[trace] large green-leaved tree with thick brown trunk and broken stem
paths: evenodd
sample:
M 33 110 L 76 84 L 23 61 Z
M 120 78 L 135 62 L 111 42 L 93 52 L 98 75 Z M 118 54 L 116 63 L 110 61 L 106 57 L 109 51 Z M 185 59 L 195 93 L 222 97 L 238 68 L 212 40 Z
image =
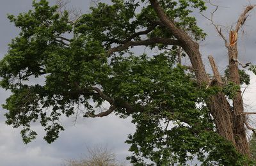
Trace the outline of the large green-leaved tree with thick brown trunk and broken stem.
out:
M 206 34 L 191 16 L 192 9 L 206 10 L 203 0 L 112 0 L 73 21 L 68 11 L 60 13 L 45 0 L 33 6 L 8 16 L 20 34 L 0 63 L 1 86 L 12 91 L 3 105 L 6 123 L 24 127 L 25 143 L 36 137 L 30 129 L 35 121 L 45 127 L 47 142 L 56 140 L 64 130 L 59 117 L 80 107 L 84 117 L 113 112 L 132 117 L 136 132 L 126 142 L 134 165 L 185 164 L 195 157 L 202 165 L 252 164 L 246 127 L 254 129 L 246 122 L 240 91 L 250 81 L 238 65 L 253 72 L 255 66 L 239 62 L 237 34 L 253 5 L 241 14 L 229 41 L 209 19 L 227 47 L 225 77 L 211 56 L 214 75 L 204 68 L 198 41 Z M 159 53 L 136 55 L 131 48 L 138 46 Z M 180 63 L 183 56 L 191 66 Z M 45 81 L 31 85 L 33 77 Z M 104 102 L 109 109 L 99 112 Z

